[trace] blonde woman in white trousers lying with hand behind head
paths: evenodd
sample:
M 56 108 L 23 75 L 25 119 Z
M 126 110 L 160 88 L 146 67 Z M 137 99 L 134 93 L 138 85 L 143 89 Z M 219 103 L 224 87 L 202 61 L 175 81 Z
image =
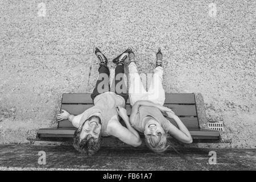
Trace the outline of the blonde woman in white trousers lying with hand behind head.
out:
M 192 143 L 192 137 L 187 127 L 179 117 L 164 107 L 165 94 L 162 86 L 163 67 L 162 52 L 156 53 L 156 67 L 148 92 L 143 88 L 139 77 L 137 65 L 134 60 L 134 52 L 129 52 L 129 98 L 131 106 L 130 123 L 136 130 L 144 133 L 147 146 L 154 152 L 160 153 L 167 150 L 171 143 L 167 141 L 167 134 L 183 143 Z M 172 125 L 163 113 L 173 118 L 177 126 Z

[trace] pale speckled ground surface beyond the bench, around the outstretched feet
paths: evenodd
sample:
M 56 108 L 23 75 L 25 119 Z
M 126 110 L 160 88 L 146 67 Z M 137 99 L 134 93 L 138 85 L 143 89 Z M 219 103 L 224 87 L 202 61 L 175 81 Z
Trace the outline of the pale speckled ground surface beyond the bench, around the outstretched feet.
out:
M 94 47 L 112 60 L 130 46 L 143 73 L 162 47 L 164 89 L 203 94 L 208 121 L 224 123 L 229 143 L 218 146 L 255 147 L 255 10 L 231 0 L 0 1 L 0 143 L 56 125 L 62 93 L 92 92 Z

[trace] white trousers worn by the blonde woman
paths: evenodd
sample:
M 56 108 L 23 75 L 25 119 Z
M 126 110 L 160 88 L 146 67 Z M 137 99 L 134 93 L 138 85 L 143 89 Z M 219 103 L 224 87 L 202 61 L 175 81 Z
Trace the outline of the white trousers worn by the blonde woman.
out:
M 155 104 L 164 104 L 166 96 L 162 85 L 163 68 L 156 67 L 148 92 L 144 89 L 141 77 L 139 76 L 137 65 L 133 62 L 129 64 L 129 98 L 133 106 L 136 101 L 147 100 Z

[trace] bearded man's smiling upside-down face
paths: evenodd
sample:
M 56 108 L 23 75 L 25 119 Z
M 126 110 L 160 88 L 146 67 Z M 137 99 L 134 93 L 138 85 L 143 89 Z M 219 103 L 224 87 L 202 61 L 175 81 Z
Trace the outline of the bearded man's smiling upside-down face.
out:
M 84 126 L 82 126 L 82 131 L 80 134 L 80 138 L 83 139 L 87 135 L 91 135 L 93 138 L 98 139 L 101 133 L 101 124 L 97 118 L 92 118 L 85 121 Z

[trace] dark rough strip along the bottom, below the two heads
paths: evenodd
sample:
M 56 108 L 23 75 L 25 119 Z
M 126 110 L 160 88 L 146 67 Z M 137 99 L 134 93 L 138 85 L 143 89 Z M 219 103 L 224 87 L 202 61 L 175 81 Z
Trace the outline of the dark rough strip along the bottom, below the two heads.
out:
M 39 151 L 46 152 L 46 164 L 38 164 Z M 163 156 L 146 148 L 103 147 L 93 157 L 80 155 L 72 146 L 0 145 L 0 169 L 84 169 L 84 170 L 255 170 L 255 149 L 180 148 L 179 154 Z M 216 164 L 209 164 L 210 151 Z M 42 160 L 40 160 L 42 161 Z M 212 160 L 210 160 L 212 161 Z

